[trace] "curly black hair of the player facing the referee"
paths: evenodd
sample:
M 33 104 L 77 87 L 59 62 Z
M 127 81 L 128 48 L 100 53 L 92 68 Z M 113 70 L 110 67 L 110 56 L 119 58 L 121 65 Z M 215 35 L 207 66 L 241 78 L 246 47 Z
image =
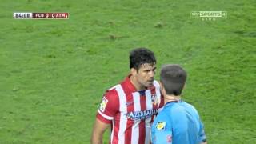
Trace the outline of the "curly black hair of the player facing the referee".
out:
M 130 51 L 130 69 L 138 70 L 145 63 L 156 64 L 154 53 L 146 48 L 137 48 Z

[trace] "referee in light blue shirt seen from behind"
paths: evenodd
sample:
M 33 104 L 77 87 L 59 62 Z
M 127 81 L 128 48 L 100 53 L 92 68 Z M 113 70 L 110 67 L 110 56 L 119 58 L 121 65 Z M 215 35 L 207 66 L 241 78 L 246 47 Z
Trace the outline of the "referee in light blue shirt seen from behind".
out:
M 165 106 L 151 127 L 153 144 L 206 144 L 206 134 L 194 106 L 181 99 L 186 71 L 178 65 L 162 66 L 161 92 Z

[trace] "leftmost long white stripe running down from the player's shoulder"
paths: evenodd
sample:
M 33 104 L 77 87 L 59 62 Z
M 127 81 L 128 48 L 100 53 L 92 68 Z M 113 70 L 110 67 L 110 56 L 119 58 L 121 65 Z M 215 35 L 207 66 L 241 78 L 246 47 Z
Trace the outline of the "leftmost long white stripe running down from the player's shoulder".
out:
M 121 85 L 116 86 L 116 90 L 117 90 L 118 96 L 119 96 L 119 111 L 120 111 L 118 143 L 123 144 L 123 143 L 125 143 L 125 130 L 126 130 L 126 123 L 127 123 L 127 118 L 126 118 L 126 113 L 127 113 L 126 94 L 122 90 Z M 112 141 L 112 139 L 111 139 L 111 141 Z

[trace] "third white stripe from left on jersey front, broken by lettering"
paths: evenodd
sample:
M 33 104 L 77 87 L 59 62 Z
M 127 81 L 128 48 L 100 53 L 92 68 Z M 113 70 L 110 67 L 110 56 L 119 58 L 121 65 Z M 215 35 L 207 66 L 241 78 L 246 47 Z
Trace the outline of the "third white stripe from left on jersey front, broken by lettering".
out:
M 151 96 L 151 90 L 146 90 L 146 110 L 152 110 L 153 109 L 153 104 L 152 104 L 152 96 Z M 146 131 L 146 138 L 145 138 L 145 144 L 150 143 L 150 118 L 146 118 L 145 120 L 145 131 Z

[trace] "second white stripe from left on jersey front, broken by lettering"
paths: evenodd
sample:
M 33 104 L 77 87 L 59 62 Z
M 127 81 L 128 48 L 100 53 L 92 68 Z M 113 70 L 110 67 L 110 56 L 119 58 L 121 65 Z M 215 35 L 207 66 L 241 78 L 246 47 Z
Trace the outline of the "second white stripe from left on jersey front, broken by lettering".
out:
M 133 93 L 134 98 L 134 111 L 140 111 L 141 110 L 141 100 L 140 100 L 140 94 L 138 92 Z M 134 125 L 132 127 L 131 131 L 131 142 L 132 143 L 138 143 L 138 136 L 139 136 L 139 123 L 140 120 L 135 120 Z

